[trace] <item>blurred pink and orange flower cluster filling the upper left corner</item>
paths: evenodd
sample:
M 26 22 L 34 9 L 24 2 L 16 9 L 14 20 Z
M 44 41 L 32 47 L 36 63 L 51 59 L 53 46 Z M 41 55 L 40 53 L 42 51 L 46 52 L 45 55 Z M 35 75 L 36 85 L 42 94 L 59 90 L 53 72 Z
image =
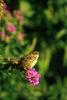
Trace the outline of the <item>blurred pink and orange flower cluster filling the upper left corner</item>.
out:
M 24 16 L 19 9 L 14 10 L 13 14 L 9 11 L 4 0 L 1 1 L 0 14 L 0 40 L 10 43 L 12 40 L 23 44 L 25 33 L 23 30 Z

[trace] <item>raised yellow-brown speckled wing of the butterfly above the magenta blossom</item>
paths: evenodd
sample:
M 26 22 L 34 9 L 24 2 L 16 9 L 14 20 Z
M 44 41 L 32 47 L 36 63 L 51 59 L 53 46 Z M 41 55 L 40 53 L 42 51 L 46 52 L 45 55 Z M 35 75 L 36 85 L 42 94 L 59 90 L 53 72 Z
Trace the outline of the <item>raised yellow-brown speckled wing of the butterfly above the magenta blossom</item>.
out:
M 39 58 L 39 52 L 33 51 L 19 60 L 18 65 L 23 68 L 33 68 Z

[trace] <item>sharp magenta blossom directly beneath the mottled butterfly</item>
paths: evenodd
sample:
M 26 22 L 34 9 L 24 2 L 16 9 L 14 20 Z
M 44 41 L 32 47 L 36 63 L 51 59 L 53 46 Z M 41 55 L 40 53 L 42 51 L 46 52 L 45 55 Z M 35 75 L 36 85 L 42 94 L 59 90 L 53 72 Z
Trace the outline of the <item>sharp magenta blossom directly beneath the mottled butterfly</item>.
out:
M 33 68 L 33 69 L 27 69 L 25 71 L 26 79 L 32 84 L 32 85 L 38 85 L 40 81 L 40 74 Z

